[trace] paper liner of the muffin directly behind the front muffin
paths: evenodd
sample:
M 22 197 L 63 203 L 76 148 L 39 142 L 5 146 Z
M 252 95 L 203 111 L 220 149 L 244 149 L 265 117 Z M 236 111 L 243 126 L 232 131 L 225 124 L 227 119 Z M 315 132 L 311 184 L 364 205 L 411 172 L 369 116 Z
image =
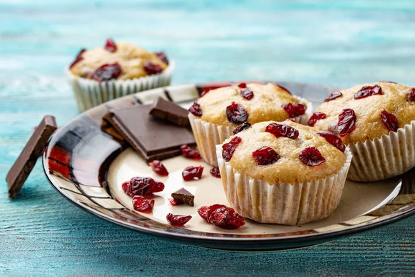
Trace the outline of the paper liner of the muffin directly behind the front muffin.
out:
M 305 114 L 297 116 L 293 118 L 293 120 L 297 123 L 305 125 L 312 115 L 313 104 L 304 98 L 298 96 L 295 96 L 295 98 L 300 100 L 302 103 L 305 103 L 307 105 L 307 109 Z M 225 139 L 232 136 L 235 127 L 209 123 L 208 121 L 201 120 L 193 114 L 189 114 L 188 117 L 190 125 L 192 125 L 194 138 L 196 139 L 196 144 L 199 148 L 199 152 L 201 153 L 201 157 L 206 163 L 209 163 L 210 166 L 218 166 L 216 158 L 216 145 L 223 143 Z

